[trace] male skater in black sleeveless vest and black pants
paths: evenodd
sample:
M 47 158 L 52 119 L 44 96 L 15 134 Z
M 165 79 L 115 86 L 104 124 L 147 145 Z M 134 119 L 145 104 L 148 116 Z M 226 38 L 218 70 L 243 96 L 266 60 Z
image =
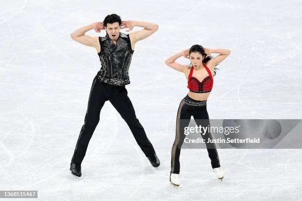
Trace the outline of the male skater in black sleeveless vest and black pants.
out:
M 129 32 L 135 26 L 143 27 L 144 29 L 129 34 L 120 33 L 121 29 L 128 28 L 126 32 Z M 107 34 L 105 37 L 92 37 L 85 34 L 91 29 L 96 32 L 101 32 L 101 30 L 105 29 Z M 78 136 L 71 161 L 70 170 L 72 174 L 78 177 L 81 176 L 81 163 L 89 140 L 100 120 L 101 109 L 107 100 L 113 104 L 114 108 L 128 124 L 136 142 L 149 159 L 151 165 L 153 167 L 160 165 L 143 126 L 136 118 L 133 105 L 127 96 L 125 88 L 125 85 L 130 84 L 128 70 L 136 42 L 149 37 L 157 29 L 158 25 L 153 23 L 132 20 L 121 21 L 118 15 L 111 14 L 103 22 L 93 23 L 71 33 L 71 37 L 77 42 L 94 47 L 101 61 L 101 69 L 92 82 L 84 125 Z

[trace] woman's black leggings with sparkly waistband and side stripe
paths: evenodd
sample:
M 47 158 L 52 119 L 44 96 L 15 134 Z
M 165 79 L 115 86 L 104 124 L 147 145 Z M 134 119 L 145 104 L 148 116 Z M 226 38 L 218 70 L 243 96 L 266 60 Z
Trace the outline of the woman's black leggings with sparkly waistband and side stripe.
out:
M 193 100 L 187 95 L 181 101 L 177 112 L 176 136 L 174 144 L 172 146 L 170 173 L 179 174 L 179 157 L 181 152 L 181 146 L 185 138 L 184 129 L 189 125 L 191 116 L 194 117 L 197 126 L 205 126 L 204 119 L 209 119 L 209 115 L 207 112 L 207 100 Z M 203 121 L 198 121 L 199 119 L 203 119 Z M 210 125 L 209 120 L 207 121 L 206 125 Z M 201 136 L 206 142 L 208 141 L 208 138 L 212 139 L 212 135 L 209 132 Z M 219 157 L 215 144 L 206 143 L 206 147 L 209 154 L 209 158 L 211 159 L 212 168 L 220 167 Z

